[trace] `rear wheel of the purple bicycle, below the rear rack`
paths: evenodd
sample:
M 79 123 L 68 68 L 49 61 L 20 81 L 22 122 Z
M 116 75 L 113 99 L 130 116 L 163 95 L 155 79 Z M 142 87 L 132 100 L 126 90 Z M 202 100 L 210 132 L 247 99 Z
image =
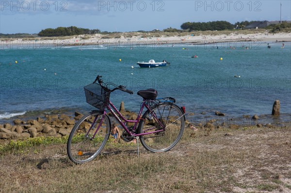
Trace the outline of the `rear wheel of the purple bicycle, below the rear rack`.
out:
M 185 117 L 176 104 L 168 102 L 157 104 L 151 111 L 145 112 L 139 124 L 139 134 L 149 133 L 140 136 L 141 143 L 151 152 L 168 151 L 181 138 Z

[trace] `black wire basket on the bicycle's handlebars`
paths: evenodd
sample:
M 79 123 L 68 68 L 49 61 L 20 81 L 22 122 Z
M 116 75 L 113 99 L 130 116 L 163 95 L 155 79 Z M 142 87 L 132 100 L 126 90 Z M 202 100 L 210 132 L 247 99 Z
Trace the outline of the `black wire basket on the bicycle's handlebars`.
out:
M 110 92 L 107 92 L 104 87 L 97 83 L 93 83 L 84 87 L 86 102 L 96 107 L 103 109 L 108 105 Z

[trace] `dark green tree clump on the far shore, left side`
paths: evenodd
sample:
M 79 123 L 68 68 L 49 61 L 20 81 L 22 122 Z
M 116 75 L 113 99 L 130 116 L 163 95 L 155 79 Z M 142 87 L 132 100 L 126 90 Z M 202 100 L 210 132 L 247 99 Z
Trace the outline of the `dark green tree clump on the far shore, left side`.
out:
M 70 35 L 81 35 L 81 34 L 95 34 L 99 33 L 100 30 L 89 30 L 84 28 L 77 28 L 75 26 L 71 27 L 59 27 L 56 29 L 48 28 L 41 30 L 38 36 L 52 37 L 52 36 L 70 36 Z

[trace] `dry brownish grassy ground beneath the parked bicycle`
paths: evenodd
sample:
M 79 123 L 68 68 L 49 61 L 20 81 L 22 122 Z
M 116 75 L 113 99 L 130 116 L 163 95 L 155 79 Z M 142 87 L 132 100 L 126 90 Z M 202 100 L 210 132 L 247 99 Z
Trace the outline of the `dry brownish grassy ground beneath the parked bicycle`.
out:
M 0 154 L 0 193 L 291 193 L 291 127 L 185 129 L 171 151 L 112 146 L 75 165 L 65 144 Z

